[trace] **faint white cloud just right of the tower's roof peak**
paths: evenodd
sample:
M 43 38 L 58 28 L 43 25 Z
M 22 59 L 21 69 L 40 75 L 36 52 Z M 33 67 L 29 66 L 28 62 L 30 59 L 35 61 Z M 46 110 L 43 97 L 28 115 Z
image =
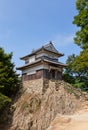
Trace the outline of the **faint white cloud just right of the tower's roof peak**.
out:
M 58 46 L 68 46 L 69 44 L 73 43 L 74 35 L 57 35 L 54 37 L 53 42 Z

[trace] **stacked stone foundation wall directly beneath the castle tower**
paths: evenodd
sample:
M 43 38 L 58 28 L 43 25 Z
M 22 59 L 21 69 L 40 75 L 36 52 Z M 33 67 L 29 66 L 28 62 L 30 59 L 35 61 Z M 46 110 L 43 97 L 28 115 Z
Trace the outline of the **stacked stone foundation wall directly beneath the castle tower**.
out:
M 55 80 L 52 81 L 52 84 L 55 86 Z M 27 93 L 36 93 L 44 94 L 50 86 L 50 80 L 41 78 L 36 80 L 27 80 L 23 81 L 23 90 Z

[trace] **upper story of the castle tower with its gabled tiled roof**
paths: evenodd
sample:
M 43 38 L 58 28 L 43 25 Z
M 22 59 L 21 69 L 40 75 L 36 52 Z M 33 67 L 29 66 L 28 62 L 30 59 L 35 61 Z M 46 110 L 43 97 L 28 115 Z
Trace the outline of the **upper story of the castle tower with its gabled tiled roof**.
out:
M 32 53 L 21 57 L 20 59 L 24 60 L 26 65 L 43 58 L 58 62 L 58 58 L 61 56 L 64 56 L 64 54 L 58 52 L 52 42 L 50 42 L 37 50 L 33 50 Z

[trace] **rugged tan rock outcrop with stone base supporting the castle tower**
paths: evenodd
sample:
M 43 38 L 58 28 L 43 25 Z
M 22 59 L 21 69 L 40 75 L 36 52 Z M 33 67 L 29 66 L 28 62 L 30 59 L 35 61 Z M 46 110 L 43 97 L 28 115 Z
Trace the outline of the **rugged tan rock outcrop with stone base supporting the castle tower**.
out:
M 45 88 L 44 88 L 45 85 Z M 58 113 L 81 107 L 82 93 L 64 81 L 31 80 L 23 84 L 9 130 L 46 130 Z

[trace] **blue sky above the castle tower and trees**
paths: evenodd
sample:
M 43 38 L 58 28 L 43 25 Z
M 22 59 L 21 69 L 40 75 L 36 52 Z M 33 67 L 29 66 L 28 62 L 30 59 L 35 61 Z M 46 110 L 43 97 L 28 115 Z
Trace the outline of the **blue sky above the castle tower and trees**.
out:
M 15 66 L 22 66 L 19 58 L 33 49 L 52 41 L 64 53 L 79 54 L 73 38 L 78 28 L 72 24 L 77 14 L 76 0 L 0 0 L 0 47 L 13 52 Z

